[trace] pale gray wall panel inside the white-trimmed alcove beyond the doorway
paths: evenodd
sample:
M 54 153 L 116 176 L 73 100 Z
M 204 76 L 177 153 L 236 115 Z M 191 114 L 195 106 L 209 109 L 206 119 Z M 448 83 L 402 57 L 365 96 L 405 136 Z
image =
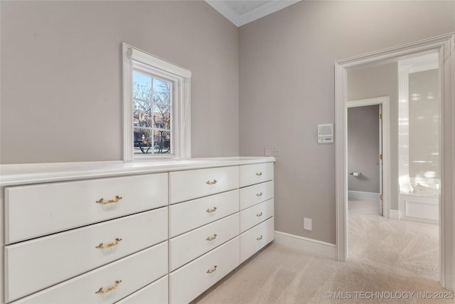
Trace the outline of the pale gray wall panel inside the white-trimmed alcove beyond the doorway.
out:
M 410 177 L 439 174 L 439 74 L 425 70 L 409 74 Z

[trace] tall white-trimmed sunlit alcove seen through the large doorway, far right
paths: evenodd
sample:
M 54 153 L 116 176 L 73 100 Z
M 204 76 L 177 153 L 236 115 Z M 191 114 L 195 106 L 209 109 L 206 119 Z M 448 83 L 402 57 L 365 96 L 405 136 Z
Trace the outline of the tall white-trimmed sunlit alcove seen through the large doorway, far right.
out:
M 399 65 L 399 216 L 438 223 L 441 189 L 438 56 L 429 54 L 416 59 Z

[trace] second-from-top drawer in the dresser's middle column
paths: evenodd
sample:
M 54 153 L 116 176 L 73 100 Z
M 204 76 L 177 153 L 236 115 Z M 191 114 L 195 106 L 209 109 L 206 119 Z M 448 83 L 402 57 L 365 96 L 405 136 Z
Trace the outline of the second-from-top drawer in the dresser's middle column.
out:
M 239 211 L 239 190 L 169 206 L 169 236 L 216 221 Z

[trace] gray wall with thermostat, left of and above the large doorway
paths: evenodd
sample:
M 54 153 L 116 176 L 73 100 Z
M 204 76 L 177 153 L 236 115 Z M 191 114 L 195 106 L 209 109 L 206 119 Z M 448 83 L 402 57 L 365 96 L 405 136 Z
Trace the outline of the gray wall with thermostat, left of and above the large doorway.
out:
M 301 1 L 240 28 L 240 154 L 282 148 L 277 231 L 335 243 L 335 145 L 316 140 L 334 122 L 334 61 L 455 31 L 454 11 L 455 1 Z

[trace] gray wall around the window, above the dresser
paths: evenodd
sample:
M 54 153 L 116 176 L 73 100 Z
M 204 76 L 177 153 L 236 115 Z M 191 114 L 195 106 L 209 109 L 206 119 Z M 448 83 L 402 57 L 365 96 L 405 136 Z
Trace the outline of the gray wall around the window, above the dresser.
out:
M 122 159 L 122 42 L 193 72 L 193 157 L 239 154 L 238 28 L 205 2 L 0 8 L 2 164 Z

